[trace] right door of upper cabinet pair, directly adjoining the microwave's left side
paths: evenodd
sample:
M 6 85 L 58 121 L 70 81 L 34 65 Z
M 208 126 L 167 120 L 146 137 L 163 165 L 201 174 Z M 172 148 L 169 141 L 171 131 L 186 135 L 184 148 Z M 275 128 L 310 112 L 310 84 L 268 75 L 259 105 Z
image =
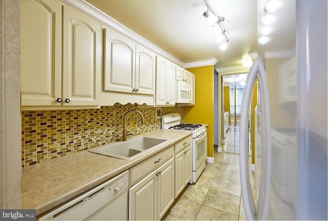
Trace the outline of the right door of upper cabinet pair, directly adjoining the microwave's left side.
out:
M 168 61 L 168 71 L 166 79 L 166 92 L 168 105 L 175 105 L 176 101 L 176 82 L 175 82 L 175 67 L 176 65 Z

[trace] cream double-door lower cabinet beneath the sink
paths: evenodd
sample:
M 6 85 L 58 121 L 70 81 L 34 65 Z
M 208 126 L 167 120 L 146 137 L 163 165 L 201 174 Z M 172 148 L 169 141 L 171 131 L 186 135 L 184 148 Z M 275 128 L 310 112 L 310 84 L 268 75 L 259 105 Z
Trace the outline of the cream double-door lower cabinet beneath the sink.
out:
M 174 157 L 129 190 L 129 220 L 160 220 L 174 202 Z

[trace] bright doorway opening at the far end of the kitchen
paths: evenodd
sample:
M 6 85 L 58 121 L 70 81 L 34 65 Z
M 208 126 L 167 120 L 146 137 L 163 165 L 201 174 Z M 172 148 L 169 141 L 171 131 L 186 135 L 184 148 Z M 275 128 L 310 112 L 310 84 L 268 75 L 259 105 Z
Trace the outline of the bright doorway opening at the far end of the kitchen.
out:
M 222 75 L 221 147 L 223 152 L 239 153 L 241 100 L 247 73 Z

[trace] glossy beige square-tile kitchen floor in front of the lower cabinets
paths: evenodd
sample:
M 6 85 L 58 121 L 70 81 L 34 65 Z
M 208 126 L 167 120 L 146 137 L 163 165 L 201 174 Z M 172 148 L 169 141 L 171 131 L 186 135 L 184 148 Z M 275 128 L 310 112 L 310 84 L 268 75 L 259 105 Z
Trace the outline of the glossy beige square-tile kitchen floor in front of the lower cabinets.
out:
M 254 185 L 254 174 L 251 173 Z M 214 164 L 188 184 L 162 220 L 246 220 L 241 197 L 239 155 L 214 151 Z

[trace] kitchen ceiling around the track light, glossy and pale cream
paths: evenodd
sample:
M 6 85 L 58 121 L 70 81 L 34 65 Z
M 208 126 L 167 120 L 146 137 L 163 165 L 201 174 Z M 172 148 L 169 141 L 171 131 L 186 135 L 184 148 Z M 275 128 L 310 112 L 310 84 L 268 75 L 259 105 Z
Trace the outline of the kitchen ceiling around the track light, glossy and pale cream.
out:
M 185 64 L 216 58 L 215 68 L 241 66 L 243 55 L 257 52 L 255 0 L 86 1 Z M 225 51 L 203 16 L 205 3 L 225 18 Z

